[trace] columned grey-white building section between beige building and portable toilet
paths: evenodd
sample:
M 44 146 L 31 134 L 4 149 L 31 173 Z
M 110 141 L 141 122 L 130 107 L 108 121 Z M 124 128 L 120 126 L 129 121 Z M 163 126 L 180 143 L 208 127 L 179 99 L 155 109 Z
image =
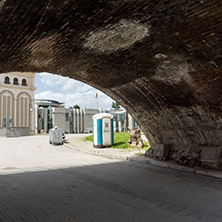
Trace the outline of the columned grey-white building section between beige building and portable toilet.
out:
M 36 133 L 48 133 L 54 126 L 67 133 L 90 133 L 92 117 L 99 113 L 97 109 L 65 108 L 55 100 L 36 100 L 34 107 Z

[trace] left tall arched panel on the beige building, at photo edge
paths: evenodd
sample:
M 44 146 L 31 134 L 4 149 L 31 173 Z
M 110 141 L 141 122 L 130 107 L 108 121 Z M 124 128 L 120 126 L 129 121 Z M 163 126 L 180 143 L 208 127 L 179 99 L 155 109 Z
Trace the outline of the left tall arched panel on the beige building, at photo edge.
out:
M 6 126 L 9 127 L 9 119 L 13 119 L 12 126 L 15 121 L 15 95 L 9 90 L 0 92 L 0 126 L 3 126 L 3 118 L 6 118 Z

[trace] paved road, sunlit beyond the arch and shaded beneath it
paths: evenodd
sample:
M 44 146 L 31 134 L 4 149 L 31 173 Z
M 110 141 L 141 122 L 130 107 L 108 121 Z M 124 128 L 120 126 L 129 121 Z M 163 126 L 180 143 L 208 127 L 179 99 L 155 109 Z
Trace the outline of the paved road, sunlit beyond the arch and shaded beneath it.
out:
M 0 138 L 0 221 L 222 221 L 222 180 Z

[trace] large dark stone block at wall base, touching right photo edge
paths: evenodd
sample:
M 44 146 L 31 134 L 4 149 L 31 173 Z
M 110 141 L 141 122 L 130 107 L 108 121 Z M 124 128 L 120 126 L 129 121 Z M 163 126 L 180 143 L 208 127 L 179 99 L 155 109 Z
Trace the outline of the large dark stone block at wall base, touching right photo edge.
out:
M 222 147 L 204 147 L 201 152 L 202 165 L 218 168 L 220 164 L 220 157 L 222 154 Z

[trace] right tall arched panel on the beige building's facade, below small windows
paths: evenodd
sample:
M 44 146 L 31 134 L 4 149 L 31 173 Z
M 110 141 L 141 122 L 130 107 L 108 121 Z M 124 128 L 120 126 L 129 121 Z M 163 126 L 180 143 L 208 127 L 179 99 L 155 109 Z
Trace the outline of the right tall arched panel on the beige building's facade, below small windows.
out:
M 16 126 L 29 127 L 31 122 L 31 95 L 27 92 L 20 92 L 16 100 Z

